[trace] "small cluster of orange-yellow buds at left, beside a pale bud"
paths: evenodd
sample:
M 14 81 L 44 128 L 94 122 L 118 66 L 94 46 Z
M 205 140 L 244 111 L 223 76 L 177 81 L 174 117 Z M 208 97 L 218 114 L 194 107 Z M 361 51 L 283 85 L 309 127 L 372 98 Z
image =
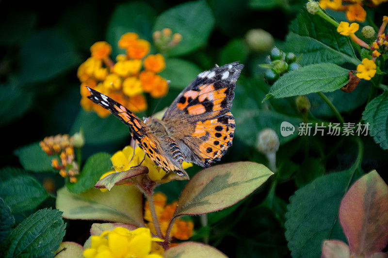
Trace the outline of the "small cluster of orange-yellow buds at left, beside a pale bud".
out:
M 39 142 L 40 147 L 47 155 L 59 154 L 60 161 L 57 158 L 51 160 L 51 167 L 59 170 L 62 177 L 69 177 L 70 182 L 77 182 L 79 167 L 74 161 L 73 137 L 68 135 L 56 135 L 45 137 Z

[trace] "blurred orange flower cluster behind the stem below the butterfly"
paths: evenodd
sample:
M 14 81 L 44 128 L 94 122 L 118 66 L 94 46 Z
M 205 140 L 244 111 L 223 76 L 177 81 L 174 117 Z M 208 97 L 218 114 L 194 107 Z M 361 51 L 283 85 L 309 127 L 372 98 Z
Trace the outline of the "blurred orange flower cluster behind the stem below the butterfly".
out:
M 173 217 L 175 208 L 177 207 L 176 201 L 166 205 L 166 200 L 167 200 L 167 197 L 162 193 L 154 194 L 155 210 L 158 216 L 159 225 L 161 226 L 163 235 L 165 235 L 168 228 L 168 224 L 170 223 Z M 156 234 L 147 201 L 144 206 L 144 210 L 145 210 L 144 219 L 148 221 L 147 227 L 151 230 L 153 234 Z M 171 229 L 170 236 L 175 237 L 178 240 L 187 240 L 193 236 L 193 229 L 194 229 L 194 224 L 192 221 L 185 221 L 180 218 L 177 218 Z

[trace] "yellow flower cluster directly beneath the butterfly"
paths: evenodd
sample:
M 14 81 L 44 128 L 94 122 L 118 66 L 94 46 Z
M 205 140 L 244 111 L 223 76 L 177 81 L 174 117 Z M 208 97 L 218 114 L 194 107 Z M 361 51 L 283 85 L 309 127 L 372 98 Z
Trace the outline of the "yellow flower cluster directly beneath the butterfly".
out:
M 148 167 L 147 176 L 149 180 L 161 180 L 166 175 L 166 171 L 164 171 L 161 167 L 156 166 L 155 163 L 147 155 L 145 156 L 144 151 L 140 147 L 136 147 L 135 152 L 133 153 L 133 148 L 130 146 L 126 146 L 122 151 L 118 151 L 113 154 L 113 156 L 111 157 L 111 161 L 114 170 L 106 172 L 101 176 L 100 179 L 103 179 L 104 177 L 112 173 L 126 171 L 129 170 L 131 167 L 137 166 L 143 160 L 143 157 L 145 157 L 145 159 L 142 162 L 141 166 Z M 192 166 L 192 163 L 183 162 L 182 164 L 182 167 L 184 169 Z M 106 191 L 105 188 L 101 188 L 100 190 L 102 192 Z

